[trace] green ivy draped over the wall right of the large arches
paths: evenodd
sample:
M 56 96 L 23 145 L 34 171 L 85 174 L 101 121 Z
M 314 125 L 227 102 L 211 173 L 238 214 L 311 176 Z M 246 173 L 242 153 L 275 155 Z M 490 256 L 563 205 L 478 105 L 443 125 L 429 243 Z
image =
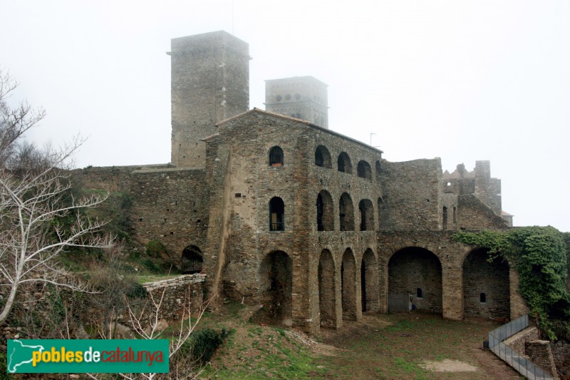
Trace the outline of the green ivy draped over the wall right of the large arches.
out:
M 458 232 L 454 239 L 487 248 L 489 260 L 504 257 L 519 273 L 519 292 L 539 328 L 550 339 L 570 338 L 568 233 L 554 227 L 522 227 L 507 231 Z

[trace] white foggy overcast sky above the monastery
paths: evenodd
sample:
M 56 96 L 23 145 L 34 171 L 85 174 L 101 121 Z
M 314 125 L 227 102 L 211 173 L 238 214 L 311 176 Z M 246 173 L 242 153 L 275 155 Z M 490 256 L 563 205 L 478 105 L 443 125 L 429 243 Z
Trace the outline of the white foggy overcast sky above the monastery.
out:
M 329 128 L 390 161 L 491 160 L 514 225 L 570 231 L 570 1 L 0 0 L 0 66 L 47 117 L 27 138 L 81 133 L 76 164 L 170 161 L 170 38 L 223 29 L 264 80 L 328 84 Z

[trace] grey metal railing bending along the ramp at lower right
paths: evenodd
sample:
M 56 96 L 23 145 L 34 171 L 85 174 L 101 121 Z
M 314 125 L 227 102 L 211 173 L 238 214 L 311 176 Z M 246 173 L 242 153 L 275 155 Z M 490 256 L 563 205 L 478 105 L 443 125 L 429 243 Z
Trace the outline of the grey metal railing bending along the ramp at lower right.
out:
M 544 369 L 541 369 L 539 366 L 532 363 L 532 361 L 522 356 L 522 354 L 519 354 L 517 351 L 502 342 L 504 339 L 512 337 L 514 334 L 521 332 L 527 327 L 529 327 L 529 314 L 523 315 L 520 318 L 514 319 L 514 321 L 494 329 L 492 332 L 489 332 L 489 349 L 527 379 L 554 380 L 554 378 L 544 371 Z

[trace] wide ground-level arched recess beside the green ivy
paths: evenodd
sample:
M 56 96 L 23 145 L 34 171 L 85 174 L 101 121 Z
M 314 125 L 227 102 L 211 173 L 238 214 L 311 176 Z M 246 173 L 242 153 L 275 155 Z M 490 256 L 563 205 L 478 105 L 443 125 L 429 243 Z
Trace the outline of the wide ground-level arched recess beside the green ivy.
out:
M 509 263 L 477 249 L 463 260 L 463 313 L 465 317 L 509 318 L 511 314 Z

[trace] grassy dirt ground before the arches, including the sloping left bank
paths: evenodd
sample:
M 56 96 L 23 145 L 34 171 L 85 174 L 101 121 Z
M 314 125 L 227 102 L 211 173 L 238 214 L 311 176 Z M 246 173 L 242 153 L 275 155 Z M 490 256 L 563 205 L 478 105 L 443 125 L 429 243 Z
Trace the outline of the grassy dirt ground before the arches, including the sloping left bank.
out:
M 482 349 L 487 333 L 499 325 L 485 319 L 365 314 L 359 322 L 345 321 L 341 329 L 309 337 L 248 322 L 248 308 L 224 314 L 204 321 L 234 332 L 202 379 L 521 379 Z

